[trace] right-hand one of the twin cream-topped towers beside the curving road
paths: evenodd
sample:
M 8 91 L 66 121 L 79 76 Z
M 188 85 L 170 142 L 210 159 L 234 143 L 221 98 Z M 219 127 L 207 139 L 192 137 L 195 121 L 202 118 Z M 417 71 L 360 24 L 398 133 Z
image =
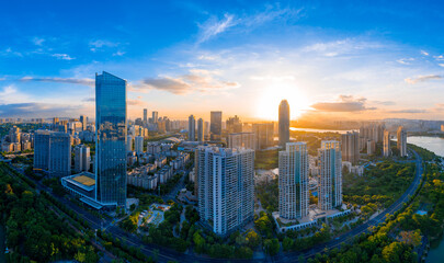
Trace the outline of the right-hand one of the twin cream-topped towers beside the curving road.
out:
M 318 207 L 329 210 L 342 205 L 341 145 L 335 140 L 322 140 L 318 149 Z

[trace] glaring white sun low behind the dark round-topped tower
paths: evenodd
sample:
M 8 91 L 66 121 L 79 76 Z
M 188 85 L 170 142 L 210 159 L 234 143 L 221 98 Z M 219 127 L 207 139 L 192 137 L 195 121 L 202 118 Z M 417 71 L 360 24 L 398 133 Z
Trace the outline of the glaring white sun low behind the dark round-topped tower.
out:
M 258 98 L 255 117 L 277 121 L 278 105 L 282 100 L 288 101 L 291 119 L 299 117 L 310 105 L 307 96 L 298 87 L 283 83 L 270 84 Z

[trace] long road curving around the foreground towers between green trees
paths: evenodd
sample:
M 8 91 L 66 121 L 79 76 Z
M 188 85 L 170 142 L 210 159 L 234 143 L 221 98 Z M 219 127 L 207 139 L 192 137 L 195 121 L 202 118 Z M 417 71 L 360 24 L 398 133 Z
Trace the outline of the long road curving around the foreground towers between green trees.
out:
M 421 178 L 422 178 L 422 172 L 423 172 L 423 167 L 422 167 L 422 159 L 419 157 L 417 152 L 413 151 L 413 153 L 417 157 L 415 160 L 415 175 L 413 179 L 413 182 L 410 184 L 409 188 L 402 194 L 402 196 L 396 201 L 390 207 L 385 209 L 383 213 L 380 213 L 378 216 L 373 218 L 372 220 L 360 225 L 358 227 L 352 229 L 351 231 L 341 235 L 334 240 L 331 240 L 329 242 L 318 244 L 314 248 L 311 248 L 308 251 L 304 252 L 289 252 L 289 253 L 280 253 L 275 256 L 267 256 L 265 259 L 254 259 L 254 260 L 218 260 L 218 259 L 209 259 L 204 255 L 196 255 L 196 254 L 184 254 L 177 252 L 174 250 L 170 250 L 164 247 L 159 247 L 156 244 L 146 244 L 141 242 L 141 239 L 135 235 L 127 233 L 126 231 L 122 230 L 119 227 L 114 226 L 111 224 L 111 219 L 100 219 L 93 215 L 91 215 L 88 210 L 84 210 L 83 208 L 77 206 L 76 204 L 71 203 L 67 198 L 59 197 L 56 195 L 53 195 L 57 201 L 69 207 L 70 209 L 75 210 L 80 218 L 87 220 L 93 229 L 104 229 L 105 232 L 111 233 L 114 238 L 118 238 L 122 241 L 124 241 L 126 244 L 134 245 L 137 248 L 140 248 L 140 251 L 146 254 L 146 255 L 153 255 L 157 254 L 157 260 L 158 262 L 168 262 L 168 261 L 178 261 L 178 262 L 298 262 L 298 256 L 303 255 L 305 259 L 309 259 L 315 256 L 317 253 L 323 252 L 326 249 L 331 250 L 334 248 L 340 248 L 344 243 L 349 243 L 353 241 L 355 237 L 358 237 L 362 233 L 368 232 L 369 228 L 375 227 L 379 225 L 380 222 L 384 222 L 386 220 L 387 214 L 394 214 L 400 208 L 402 208 L 402 204 L 407 203 L 410 196 L 414 194 L 417 188 L 421 184 Z M 21 171 L 19 171 L 21 172 Z M 182 179 L 183 180 L 183 179 Z M 183 183 L 183 181 L 181 182 Z M 34 181 L 37 185 L 38 190 L 46 191 L 48 193 L 52 193 L 50 188 L 46 187 L 38 181 Z M 179 186 L 178 186 L 179 188 Z M 171 193 L 175 193 L 174 191 L 171 191 Z

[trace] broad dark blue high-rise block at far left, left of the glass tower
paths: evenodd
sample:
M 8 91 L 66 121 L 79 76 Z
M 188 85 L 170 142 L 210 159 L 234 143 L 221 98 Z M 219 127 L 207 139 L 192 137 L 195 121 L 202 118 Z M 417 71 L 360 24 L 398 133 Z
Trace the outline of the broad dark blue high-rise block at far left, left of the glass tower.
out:
M 69 134 L 36 130 L 34 134 L 34 169 L 54 176 L 71 174 L 71 137 Z

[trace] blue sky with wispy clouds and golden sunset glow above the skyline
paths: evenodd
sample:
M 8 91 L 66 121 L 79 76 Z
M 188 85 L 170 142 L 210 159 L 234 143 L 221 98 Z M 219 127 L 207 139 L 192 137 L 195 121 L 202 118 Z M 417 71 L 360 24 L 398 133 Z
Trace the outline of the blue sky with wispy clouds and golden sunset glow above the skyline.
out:
M 367 1 L 365 1 L 367 2 Z M 8 1 L 0 117 L 94 117 L 94 76 L 130 118 L 444 118 L 439 1 Z

